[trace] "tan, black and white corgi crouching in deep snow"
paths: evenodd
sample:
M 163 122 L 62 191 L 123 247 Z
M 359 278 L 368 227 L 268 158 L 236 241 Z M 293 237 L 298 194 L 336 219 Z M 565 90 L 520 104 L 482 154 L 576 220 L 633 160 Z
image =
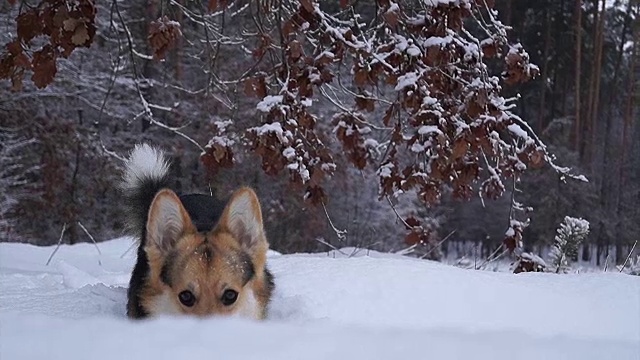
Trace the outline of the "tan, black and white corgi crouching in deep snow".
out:
M 121 190 L 139 241 L 127 316 L 237 315 L 264 319 L 274 289 L 260 202 L 242 187 L 228 202 L 169 188 L 162 150 L 136 145 Z

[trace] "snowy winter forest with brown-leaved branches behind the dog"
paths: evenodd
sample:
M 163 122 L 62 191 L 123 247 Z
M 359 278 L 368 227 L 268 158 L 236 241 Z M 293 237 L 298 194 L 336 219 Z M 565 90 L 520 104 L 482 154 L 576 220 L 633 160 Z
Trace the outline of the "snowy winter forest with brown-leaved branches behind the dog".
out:
M 3 1 L 0 240 L 121 236 L 123 159 L 149 142 L 181 191 L 252 186 L 281 253 L 613 268 L 640 240 L 639 13 L 636 0 Z

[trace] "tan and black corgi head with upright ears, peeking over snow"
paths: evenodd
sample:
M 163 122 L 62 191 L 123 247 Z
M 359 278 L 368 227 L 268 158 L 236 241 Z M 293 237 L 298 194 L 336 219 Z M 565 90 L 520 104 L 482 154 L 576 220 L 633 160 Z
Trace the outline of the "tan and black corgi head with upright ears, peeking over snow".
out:
M 258 199 L 236 191 L 218 225 L 198 232 L 178 196 L 161 190 L 149 209 L 144 250 L 149 281 L 141 294 L 153 314 L 265 316 L 268 243 Z

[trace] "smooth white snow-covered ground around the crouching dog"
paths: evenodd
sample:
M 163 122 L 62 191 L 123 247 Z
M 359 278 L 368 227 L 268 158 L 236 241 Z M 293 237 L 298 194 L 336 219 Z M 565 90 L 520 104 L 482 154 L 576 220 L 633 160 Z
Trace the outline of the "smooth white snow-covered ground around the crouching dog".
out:
M 640 277 L 272 254 L 264 322 L 132 322 L 129 246 L 0 243 L 0 359 L 640 359 Z

